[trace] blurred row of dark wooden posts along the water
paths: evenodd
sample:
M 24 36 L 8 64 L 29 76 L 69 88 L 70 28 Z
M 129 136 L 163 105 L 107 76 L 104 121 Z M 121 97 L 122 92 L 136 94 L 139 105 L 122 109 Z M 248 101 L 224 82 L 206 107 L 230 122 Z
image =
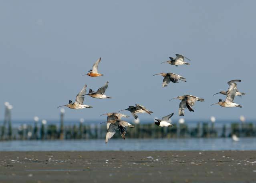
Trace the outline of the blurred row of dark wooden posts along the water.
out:
M 102 124 L 64 126 L 54 124 L 23 125 L 19 128 L 5 128 L 0 126 L 0 140 L 69 140 L 69 139 L 101 139 L 105 138 L 107 127 Z M 5 133 L 5 131 L 7 132 Z M 236 134 L 239 137 L 256 136 L 256 127 L 252 123 L 232 123 L 230 128 L 223 125 L 215 128 L 214 123 L 198 123 L 189 128 L 187 124 L 176 124 L 173 127 L 161 128 L 155 124 L 135 124 L 129 128 L 127 138 L 216 138 L 230 137 Z M 120 138 L 119 132 L 113 138 Z

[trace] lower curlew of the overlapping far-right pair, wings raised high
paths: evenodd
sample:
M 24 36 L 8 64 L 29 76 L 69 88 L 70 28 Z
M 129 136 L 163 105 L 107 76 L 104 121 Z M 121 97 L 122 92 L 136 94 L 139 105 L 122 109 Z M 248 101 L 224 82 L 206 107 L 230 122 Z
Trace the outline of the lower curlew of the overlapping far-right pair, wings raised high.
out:
M 234 103 L 234 98 L 236 96 L 236 92 L 237 92 L 237 87 L 236 87 L 236 83 L 232 82 L 230 83 L 230 87 L 227 91 L 227 97 L 225 99 L 225 101 L 223 102 L 222 99 L 219 99 L 218 103 L 212 104 L 212 105 L 220 105 L 222 107 L 242 107 L 240 104 L 236 104 Z M 211 105 L 211 106 L 212 106 Z

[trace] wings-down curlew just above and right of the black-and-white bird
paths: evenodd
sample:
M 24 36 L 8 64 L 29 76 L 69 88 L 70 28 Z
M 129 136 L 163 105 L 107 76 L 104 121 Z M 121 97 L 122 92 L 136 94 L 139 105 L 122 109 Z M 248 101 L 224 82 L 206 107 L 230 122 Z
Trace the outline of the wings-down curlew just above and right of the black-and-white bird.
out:
M 204 98 L 199 98 L 199 97 L 193 96 L 193 95 L 183 95 L 183 96 L 177 96 L 175 98 L 181 100 L 181 102 L 179 103 L 179 116 L 185 115 L 185 112 L 184 112 L 185 108 L 188 108 L 189 111 L 195 112 L 191 108 L 191 106 L 194 106 L 197 100 L 200 102 L 204 102 Z M 171 100 L 173 100 L 175 98 L 172 98 Z M 169 101 L 171 101 L 171 100 L 169 100 Z

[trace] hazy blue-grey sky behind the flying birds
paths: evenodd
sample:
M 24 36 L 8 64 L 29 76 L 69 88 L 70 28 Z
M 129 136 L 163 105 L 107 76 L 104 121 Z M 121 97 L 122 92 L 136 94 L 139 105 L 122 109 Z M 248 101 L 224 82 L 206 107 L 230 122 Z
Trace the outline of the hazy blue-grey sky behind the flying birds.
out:
M 106 91 L 113 99 L 85 98 L 93 106 L 66 109 L 67 119 L 100 118 L 129 105 L 142 104 L 154 114 L 174 112 L 180 100 L 192 94 L 205 98 L 185 119 L 255 118 L 255 1 L 0 1 L 0 118 L 4 102 L 13 106 L 12 118 L 58 119 L 59 105 L 75 100 L 84 84 L 97 90 L 109 81 Z M 191 65 L 160 64 L 180 53 Z M 102 57 L 99 72 L 86 74 Z M 187 83 L 170 83 L 172 72 Z M 235 102 L 243 108 L 210 106 L 224 95 L 227 82 L 241 79 L 238 90 L 246 92 Z M 129 114 L 129 112 L 124 112 Z M 102 118 L 103 119 L 103 118 Z M 105 118 L 104 118 L 105 119 Z M 131 118 L 132 119 L 132 118 Z

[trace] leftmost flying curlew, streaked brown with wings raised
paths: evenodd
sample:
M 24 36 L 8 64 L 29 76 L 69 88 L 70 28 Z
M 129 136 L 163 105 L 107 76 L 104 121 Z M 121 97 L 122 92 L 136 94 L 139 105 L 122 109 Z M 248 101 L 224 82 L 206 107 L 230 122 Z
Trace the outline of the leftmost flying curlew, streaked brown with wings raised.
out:
M 87 87 L 87 85 L 85 85 L 83 87 L 83 89 L 77 94 L 75 102 L 72 102 L 72 100 L 69 100 L 69 104 L 63 105 L 63 106 L 67 106 L 71 109 L 92 108 L 93 106 L 88 106 L 88 105 L 83 104 L 84 99 L 85 99 L 85 94 L 86 94 L 86 87 Z M 62 107 L 62 106 L 58 106 L 57 108 L 59 108 L 59 107 Z

